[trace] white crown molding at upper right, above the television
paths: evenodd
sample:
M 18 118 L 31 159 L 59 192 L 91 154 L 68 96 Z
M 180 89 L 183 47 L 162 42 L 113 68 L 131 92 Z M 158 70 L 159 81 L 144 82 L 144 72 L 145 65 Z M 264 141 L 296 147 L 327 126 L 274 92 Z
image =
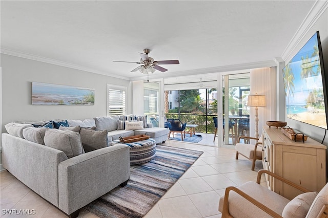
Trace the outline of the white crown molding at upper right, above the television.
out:
M 294 34 L 292 40 L 289 42 L 288 46 L 285 48 L 283 53 L 281 54 L 281 58 L 286 60 L 291 53 L 296 49 L 299 41 L 305 37 L 305 35 L 310 31 L 319 17 L 323 14 L 323 12 L 328 8 L 328 1 L 317 0 L 309 13 L 306 15 L 303 20 L 301 26 L 298 28 L 296 33 Z

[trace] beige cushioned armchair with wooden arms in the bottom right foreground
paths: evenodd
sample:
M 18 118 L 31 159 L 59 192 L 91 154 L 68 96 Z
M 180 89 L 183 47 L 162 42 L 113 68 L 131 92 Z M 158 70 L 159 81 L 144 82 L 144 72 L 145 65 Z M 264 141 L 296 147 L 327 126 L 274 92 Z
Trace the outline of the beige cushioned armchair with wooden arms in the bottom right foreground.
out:
M 288 184 L 301 193 L 289 200 L 261 185 L 262 173 Z M 238 187 L 227 187 L 219 201 L 222 217 L 326 217 L 328 212 L 328 184 L 319 193 L 286 180 L 268 170 L 259 170 L 257 181 Z

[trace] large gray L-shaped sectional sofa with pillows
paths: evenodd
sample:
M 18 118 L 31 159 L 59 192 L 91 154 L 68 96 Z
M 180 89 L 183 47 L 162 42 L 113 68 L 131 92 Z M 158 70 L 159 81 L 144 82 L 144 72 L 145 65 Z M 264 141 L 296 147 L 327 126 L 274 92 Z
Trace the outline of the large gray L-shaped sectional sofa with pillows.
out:
M 164 142 L 169 133 L 168 129 L 151 127 L 145 121 L 142 123 L 147 128 L 117 129 L 118 123 L 122 124 L 119 117 L 51 123 L 60 124 L 59 129 L 49 128 L 48 121 L 5 125 L 8 133 L 2 134 L 3 166 L 71 217 L 76 217 L 80 208 L 101 195 L 127 184 L 130 148 L 127 145 L 108 146 L 109 142 L 120 136 L 146 133 L 156 142 Z

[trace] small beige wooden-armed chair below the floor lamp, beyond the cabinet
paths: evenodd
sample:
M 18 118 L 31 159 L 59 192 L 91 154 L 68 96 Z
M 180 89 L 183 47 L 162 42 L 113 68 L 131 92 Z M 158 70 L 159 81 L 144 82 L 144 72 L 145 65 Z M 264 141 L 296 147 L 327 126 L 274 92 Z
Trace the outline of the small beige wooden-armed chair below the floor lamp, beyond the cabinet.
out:
M 240 140 L 243 139 L 244 143 L 240 143 Z M 248 136 L 239 136 L 238 143 L 235 146 L 236 149 L 236 160 L 238 160 L 238 155 L 242 155 L 245 158 L 253 162 L 252 170 L 255 168 L 255 161 L 262 160 L 262 142 L 257 142 L 256 144 L 249 144 L 250 139 L 259 140 L 258 138 L 248 137 Z M 261 140 L 260 140 L 261 141 Z

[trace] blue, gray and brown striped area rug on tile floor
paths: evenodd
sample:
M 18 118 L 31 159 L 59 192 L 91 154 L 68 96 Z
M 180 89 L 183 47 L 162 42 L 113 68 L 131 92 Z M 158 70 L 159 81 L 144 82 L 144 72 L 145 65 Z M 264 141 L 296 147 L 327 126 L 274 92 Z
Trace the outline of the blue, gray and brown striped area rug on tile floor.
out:
M 113 189 L 84 209 L 99 217 L 142 217 L 202 153 L 157 145 L 153 160 L 131 166 L 131 177 L 125 187 Z

